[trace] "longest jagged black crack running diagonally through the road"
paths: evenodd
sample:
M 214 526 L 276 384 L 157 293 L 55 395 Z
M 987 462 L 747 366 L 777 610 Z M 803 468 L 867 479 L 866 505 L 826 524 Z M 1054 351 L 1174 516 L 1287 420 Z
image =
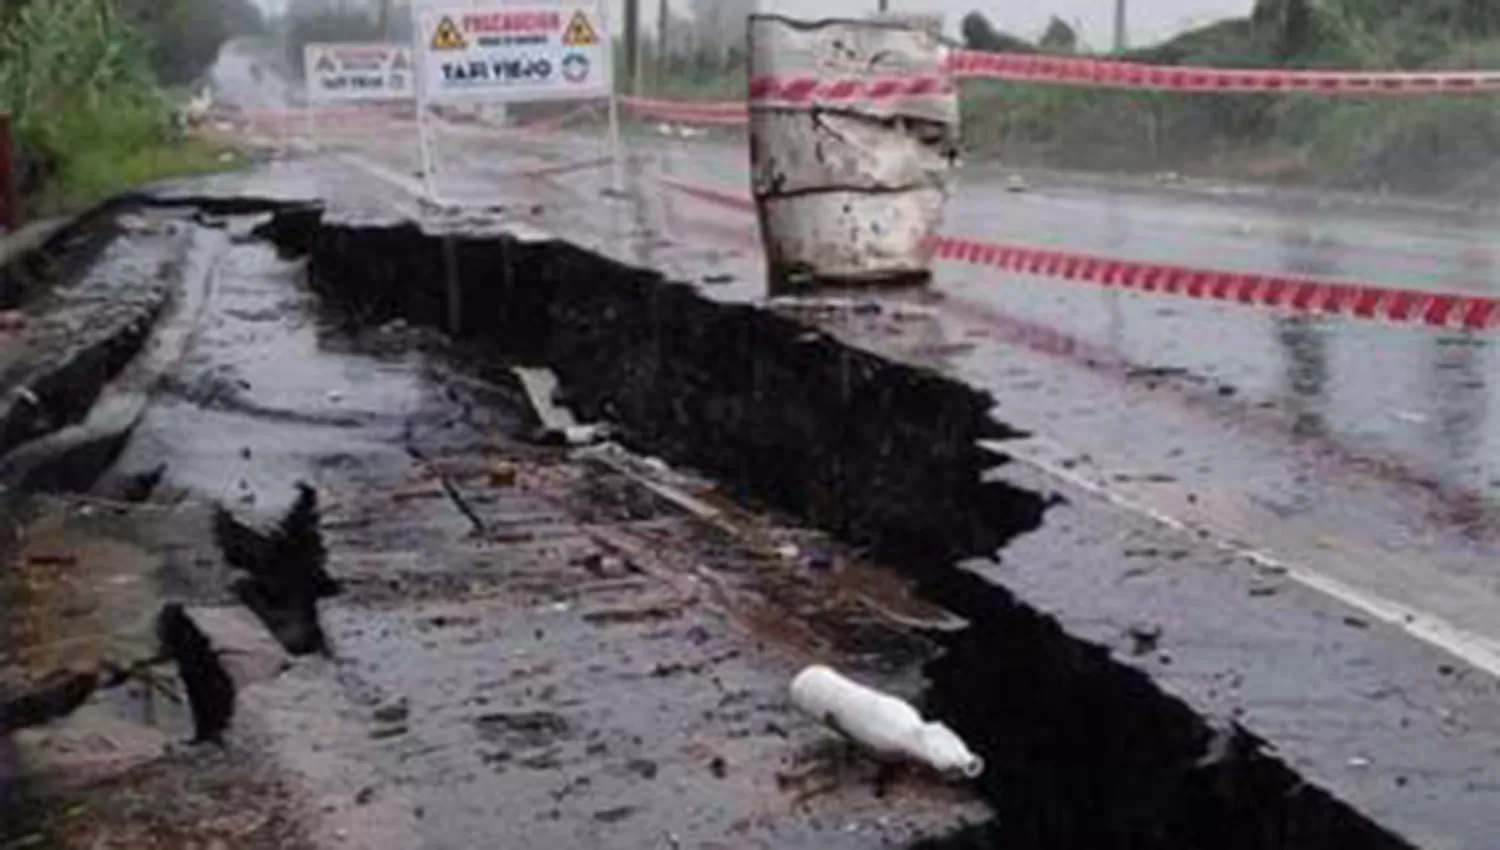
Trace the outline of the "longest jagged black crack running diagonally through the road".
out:
M 566 243 L 340 225 L 310 208 L 262 232 L 308 252 L 315 286 L 358 321 L 458 316 L 460 337 L 554 367 L 578 409 L 624 426 L 633 448 L 902 564 L 968 618 L 936 636 L 948 654 L 928 670 L 928 703 L 990 765 L 1004 840 L 981 828 L 952 846 L 1408 847 L 1232 721 L 954 565 L 1038 531 L 1054 504 L 986 483 L 1008 460 L 978 441 L 1018 436 L 986 394 Z

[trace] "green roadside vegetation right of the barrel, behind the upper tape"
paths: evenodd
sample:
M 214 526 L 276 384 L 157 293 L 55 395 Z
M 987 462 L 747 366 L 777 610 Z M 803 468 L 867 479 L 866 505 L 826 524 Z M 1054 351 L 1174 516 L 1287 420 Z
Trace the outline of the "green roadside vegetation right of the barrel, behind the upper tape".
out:
M 1018 40 L 980 15 L 970 15 L 963 31 L 976 49 L 1016 49 Z M 1047 46 L 1047 52 L 1064 52 Z M 1500 67 L 1500 4 L 1260 0 L 1250 18 L 1220 21 L 1124 58 L 1216 67 Z M 1330 100 L 999 84 L 964 88 L 970 150 L 1017 165 L 1422 193 L 1492 193 L 1500 183 L 1496 106 L 1488 96 Z

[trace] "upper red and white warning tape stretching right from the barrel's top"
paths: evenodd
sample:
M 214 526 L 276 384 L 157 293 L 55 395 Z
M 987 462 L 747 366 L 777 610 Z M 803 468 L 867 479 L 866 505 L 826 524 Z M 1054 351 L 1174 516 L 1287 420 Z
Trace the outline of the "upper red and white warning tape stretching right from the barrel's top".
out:
M 1472 94 L 1500 91 L 1496 70 L 1233 70 L 1137 64 L 1065 55 L 954 51 L 960 79 L 1006 79 L 1152 91 L 1269 91 L 1304 94 Z

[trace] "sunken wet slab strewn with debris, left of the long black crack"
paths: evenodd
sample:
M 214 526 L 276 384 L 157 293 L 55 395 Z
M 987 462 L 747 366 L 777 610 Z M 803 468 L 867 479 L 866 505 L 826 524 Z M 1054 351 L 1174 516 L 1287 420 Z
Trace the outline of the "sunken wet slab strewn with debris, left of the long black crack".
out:
M 988 820 L 786 702 L 813 661 L 920 696 L 951 616 L 698 475 L 536 445 L 506 357 L 345 333 L 256 223 L 178 219 L 208 276 L 156 328 L 182 355 L 0 573 L 9 690 L 144 657 L 188 604 L 240 688 L 228 747 L 182 744 L 170 694 L 102 694 L 0 753 L 0 847 L 884 847 Z M 268 520 L 298 480 L 344 585 L 326 657 L 270 640 L 210 531 L 212 504 Z

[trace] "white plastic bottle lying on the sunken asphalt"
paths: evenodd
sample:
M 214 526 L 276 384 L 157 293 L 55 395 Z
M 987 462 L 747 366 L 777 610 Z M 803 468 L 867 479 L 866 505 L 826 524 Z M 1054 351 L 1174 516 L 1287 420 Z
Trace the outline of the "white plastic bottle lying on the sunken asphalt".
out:
M 814 664 L 792 679 L 792 705 L 878 759 L 906 759 L 950 777 L 976 778 L 984 759 L 946 726 L 927 723 L 903 700 Z

